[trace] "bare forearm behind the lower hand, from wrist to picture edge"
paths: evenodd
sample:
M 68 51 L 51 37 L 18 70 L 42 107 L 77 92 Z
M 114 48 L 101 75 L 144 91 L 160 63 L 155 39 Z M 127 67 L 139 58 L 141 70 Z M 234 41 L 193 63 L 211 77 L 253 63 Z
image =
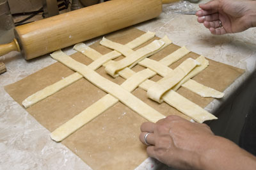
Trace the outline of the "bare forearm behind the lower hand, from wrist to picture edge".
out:
M 255 169 L 256 157 L 228 141 L 228 139 L 215 136 L 211 144 L 212 148 L 205 150 L 201 158 L 202 169 Z

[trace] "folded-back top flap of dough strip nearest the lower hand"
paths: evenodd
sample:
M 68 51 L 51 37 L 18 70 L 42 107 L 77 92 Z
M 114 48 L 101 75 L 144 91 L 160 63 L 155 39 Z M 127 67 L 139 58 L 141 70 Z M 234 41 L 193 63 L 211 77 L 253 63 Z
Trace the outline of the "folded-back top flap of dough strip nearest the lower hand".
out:
M 195 59 L 186 59 L 183 63 L 177 66 L 173 72 L 170 72 L 169 75 L 148 89 L 147 96 L 156 102 L 163 102 L 163 99 L 161 99 L 163 94 L 181 81 L 183 77 L 185 77 L 197 65 L 200 65 L 200 63 Z

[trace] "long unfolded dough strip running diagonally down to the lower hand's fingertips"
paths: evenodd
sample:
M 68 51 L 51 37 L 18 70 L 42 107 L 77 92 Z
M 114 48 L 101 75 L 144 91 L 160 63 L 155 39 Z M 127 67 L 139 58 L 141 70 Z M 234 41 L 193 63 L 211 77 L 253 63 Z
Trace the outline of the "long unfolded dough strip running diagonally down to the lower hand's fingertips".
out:
M 142 102 L 139 98 L 134 97 L 134 95 L 132 95 L 129 91 L 125 90 L 118 84 L 115 84 L 114 82 L 111 82 L 108 79 L 102 77 L 99 75 L 99 73 L 88 68 L 88 66 L 70 58 L 70 56 L 67 56 L 61 50 L 53 52 L 51 56 L 57 61 L 63 63 L 63 65 L 66 65 L 72 70 L 81 73 L 81 75 L 83 75 L 84 78 L 86 78 L 88 81 L 92 82 L 98 88 L 118 98 L 120 102 L 130 107 L 143 118 L 152 122 L 156 122 L 157 120 L 165 117 L 163 114 L 157 112 L 155 109 Z

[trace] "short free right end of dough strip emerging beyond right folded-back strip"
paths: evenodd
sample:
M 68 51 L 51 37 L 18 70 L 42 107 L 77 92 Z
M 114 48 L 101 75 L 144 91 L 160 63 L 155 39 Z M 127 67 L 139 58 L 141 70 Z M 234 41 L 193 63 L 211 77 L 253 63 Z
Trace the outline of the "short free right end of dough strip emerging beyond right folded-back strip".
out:
M 203 84 L 193 81 L 192 79 L 182 84 L 182 87 L 189 89 L 190 91 L 193 91 L 194 93 L 200 95 L 201 97 L 213 97 L 213 98 L 224 97 L 224 93 L 221 93 L 216 89 L 206 87 Z

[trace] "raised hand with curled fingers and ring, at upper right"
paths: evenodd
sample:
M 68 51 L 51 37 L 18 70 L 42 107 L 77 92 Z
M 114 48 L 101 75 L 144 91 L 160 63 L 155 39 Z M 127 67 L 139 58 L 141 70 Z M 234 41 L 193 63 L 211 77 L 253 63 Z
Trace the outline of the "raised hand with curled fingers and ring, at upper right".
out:
M 212 0 L 200 4 L 198 22 L 213 35 L 238 33 L 256 26 L 256 1 Z

